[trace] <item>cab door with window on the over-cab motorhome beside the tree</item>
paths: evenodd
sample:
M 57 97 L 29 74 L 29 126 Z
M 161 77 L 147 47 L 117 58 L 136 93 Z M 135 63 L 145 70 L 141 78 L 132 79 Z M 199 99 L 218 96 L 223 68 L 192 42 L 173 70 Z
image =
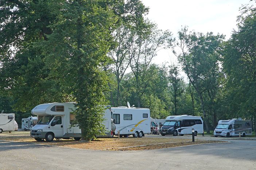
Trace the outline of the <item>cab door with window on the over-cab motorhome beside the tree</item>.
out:
M 55 116 L 50 123 L 50 131 L 54 133 L 55 137 L 63 137 L 63 118 L 62 116 Z

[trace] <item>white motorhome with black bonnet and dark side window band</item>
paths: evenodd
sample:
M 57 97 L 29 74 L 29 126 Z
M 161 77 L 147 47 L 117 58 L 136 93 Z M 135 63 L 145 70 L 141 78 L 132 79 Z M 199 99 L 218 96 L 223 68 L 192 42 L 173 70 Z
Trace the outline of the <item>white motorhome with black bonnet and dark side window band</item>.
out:
M 162 136 L 164 135 L 184 135 L 192 134 L 192 129 L 194 129 L 194 135 L 197 136 L 198 133 L 203 133 L 203 120 L 199 116 L 168 116 L 160 129 Z

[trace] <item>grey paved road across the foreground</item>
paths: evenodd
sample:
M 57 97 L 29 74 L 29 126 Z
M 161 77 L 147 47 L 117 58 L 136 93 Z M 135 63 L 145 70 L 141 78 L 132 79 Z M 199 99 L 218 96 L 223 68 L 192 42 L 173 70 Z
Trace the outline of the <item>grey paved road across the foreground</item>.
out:
M 0 169 L 256 169 L 256 141 L 224 140 L 230 142 L 144 151 L 94 151 L 0 141 Z

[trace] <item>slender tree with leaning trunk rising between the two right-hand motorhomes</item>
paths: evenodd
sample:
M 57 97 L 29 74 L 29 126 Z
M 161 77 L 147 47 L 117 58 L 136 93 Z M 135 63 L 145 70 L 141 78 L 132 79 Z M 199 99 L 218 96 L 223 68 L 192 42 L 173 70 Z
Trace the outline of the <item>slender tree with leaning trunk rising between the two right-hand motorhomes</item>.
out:
M 173 51 L 199 96 L 207 133 L 210 133 L 210 130 L 205 108 L 204 93 L 207 90 L 205 81 L 211 83 L 209 73 L 218 69 L 220 45 L 223 39 L 223 35 L 214 36 L 212 32 L 203 35 L 189 32 L 187 27 L 184 27 L 178 32 L 176 43 L 181 52 Z

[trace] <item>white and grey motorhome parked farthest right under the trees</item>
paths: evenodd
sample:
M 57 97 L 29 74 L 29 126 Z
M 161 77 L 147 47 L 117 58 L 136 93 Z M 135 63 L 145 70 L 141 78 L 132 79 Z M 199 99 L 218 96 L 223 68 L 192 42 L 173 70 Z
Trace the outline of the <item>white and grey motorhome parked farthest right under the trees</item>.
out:
M 252 122 L 250 120 L 242 120 L 242 118 L 232 120 L 220 120 L 216 126 L 213 135 L 218 136 L 241 136 L 252 135 Z

